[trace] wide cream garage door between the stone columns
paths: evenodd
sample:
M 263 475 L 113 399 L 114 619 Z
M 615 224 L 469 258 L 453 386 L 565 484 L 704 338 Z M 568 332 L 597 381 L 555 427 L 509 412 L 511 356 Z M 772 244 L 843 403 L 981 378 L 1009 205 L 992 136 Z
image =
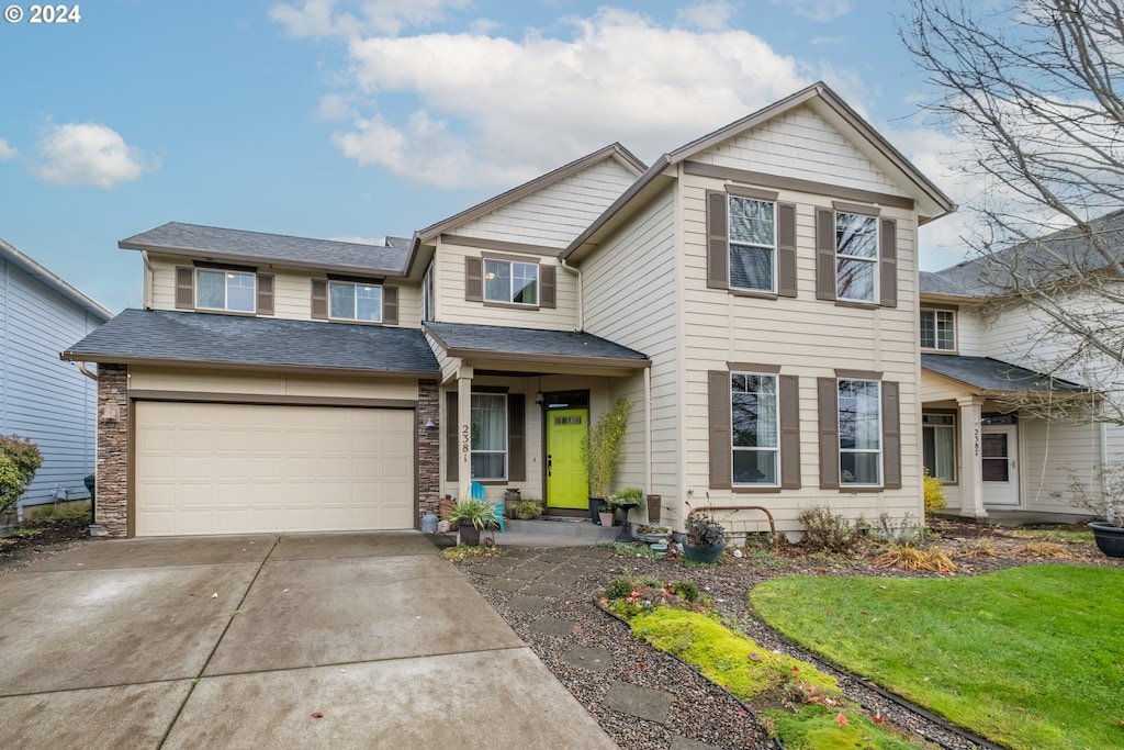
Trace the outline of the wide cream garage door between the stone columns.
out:
M 414 413 L 136 404 L 136 534 L 411 528 Z

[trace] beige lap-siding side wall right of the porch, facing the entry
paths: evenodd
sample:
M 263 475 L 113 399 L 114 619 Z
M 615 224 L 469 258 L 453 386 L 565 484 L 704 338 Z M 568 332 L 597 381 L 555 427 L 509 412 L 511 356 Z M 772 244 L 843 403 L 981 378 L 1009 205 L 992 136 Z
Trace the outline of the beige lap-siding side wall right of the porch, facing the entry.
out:
M 616 485 L 662 495 L 664 505 L 682 496 L 676 236 L 674 191 L 668 190 L 582 264 L 586 331 L 652 360 L 650 481 L 644 376 L 610 383 L 614 398 L 626 396 L 634 404 Z

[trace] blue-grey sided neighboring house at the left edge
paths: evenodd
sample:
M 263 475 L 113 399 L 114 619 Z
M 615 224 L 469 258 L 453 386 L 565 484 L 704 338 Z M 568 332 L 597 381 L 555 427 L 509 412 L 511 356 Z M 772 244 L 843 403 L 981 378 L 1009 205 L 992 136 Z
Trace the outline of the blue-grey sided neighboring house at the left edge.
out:
M 39 446 L 20 506 L 90 497 L 97 387 L 58 351 L 112 314 L 0 240 L 0 434 Z

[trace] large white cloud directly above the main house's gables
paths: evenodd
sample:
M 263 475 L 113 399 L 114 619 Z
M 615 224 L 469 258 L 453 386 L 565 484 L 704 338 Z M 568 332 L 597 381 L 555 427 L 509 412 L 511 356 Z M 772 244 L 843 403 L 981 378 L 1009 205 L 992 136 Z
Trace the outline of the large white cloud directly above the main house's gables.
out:
M 743 30 L 611 9 L 565 22 L 568 38 L 352 37 L 346 98 L 320 107 L 350 102 L 333 141 L 416 182 L 510 186 L 618 139 L 652 160 L 819 78 Z

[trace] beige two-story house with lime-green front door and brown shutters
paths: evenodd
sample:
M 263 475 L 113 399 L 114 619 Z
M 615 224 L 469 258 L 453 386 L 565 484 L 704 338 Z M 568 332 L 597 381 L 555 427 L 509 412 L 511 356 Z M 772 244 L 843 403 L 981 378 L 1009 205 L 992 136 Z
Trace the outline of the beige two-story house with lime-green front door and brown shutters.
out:
M 442 495 L 922 513 L 916 233 L 953 206 L 823 84 L 645 168 L 619 145 L 387 246 L 169 224 L 99 363 L 111 535 L 414 527 Z

